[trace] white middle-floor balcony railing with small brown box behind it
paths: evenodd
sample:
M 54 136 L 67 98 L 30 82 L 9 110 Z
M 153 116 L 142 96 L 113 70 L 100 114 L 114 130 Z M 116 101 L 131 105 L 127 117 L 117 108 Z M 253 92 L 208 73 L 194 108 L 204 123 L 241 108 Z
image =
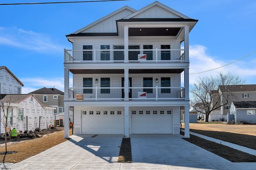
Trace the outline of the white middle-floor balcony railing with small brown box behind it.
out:
M 184 99 L 184 87 L 129 87 L 129 99 Z M 70 87 L 69 100 L 124 100 L 124 87 Z

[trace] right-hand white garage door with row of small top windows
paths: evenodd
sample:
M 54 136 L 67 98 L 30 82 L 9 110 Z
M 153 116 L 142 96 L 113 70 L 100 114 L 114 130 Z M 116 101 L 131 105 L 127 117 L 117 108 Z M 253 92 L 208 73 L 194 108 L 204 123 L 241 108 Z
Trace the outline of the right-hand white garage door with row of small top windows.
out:
M 172 111 L 132 111 L 132 134 L 172 134 Z

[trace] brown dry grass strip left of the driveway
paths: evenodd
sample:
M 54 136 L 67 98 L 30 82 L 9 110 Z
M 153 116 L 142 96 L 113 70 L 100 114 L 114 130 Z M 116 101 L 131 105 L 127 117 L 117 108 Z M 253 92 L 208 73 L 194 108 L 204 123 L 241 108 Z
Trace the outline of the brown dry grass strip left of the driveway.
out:
M 11 163 L 11 162 L 20 162 L 31 156 L 34 156 L 44 150 L 52 148 L 62 142 L 65 142 L 68 139 L 64 138 L 64 130 L 59 132 L 54 132 L 51 134 L 46 134 L 41 138 L 34 138 L 30 140 L 24 140 L 15 144 L 7 146 L 7 151 L 17 151 L 15 154 L 4 154 L 0 155 L 0 162 Z M 5 151 L 5 146 L 0 148 L 0 152 Z

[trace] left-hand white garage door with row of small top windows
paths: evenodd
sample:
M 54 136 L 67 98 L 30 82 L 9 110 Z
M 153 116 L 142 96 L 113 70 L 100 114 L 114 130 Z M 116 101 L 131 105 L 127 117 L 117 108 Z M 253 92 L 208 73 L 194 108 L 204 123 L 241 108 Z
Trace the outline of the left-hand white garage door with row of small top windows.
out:
M 123 111 L 82 111 L 82 134 L 123 134 Z

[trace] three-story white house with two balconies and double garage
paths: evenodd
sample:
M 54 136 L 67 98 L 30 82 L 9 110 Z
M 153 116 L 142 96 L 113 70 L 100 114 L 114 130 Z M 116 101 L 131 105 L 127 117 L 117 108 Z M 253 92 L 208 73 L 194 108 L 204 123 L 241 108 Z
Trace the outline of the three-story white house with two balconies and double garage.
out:
M 156 1 L 67 35 L 65 125 L 74 107 L 75 134 L 180 134 L 183 107 L 189 137 L 188 37 L 197 21 Z

